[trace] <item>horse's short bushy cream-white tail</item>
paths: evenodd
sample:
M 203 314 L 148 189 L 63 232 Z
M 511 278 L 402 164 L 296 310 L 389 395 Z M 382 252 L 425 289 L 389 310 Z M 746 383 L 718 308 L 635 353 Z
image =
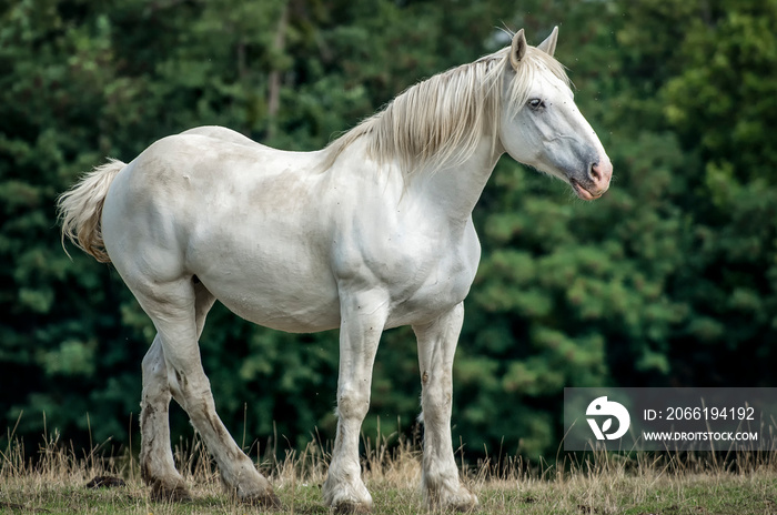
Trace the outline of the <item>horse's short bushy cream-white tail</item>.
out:
M 62 221 L 62 246 L 68 238 L 75 246 L 83 250 L 101 263 L 110 263 L 102 242 L 100 220 L 102 205 L 108 189 L 117 174 L 127 164 L 109 159 L 105 164 L 95 166 L 70 190 L 57 200 L 59 218 Z M 68 250 L 65 249 L 67 253 Z

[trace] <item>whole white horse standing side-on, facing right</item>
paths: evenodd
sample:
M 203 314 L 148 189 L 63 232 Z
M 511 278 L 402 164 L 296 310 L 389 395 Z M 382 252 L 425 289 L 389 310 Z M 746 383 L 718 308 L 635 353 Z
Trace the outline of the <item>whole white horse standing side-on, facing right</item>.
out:
M 239 498 L 278 505 L 216 415 L 198 339 L 218 299 L 282 331 L 340 327 L 330 506 L 364 512 L 359 434 L 384 329 L 412 325 L 422 384 L 422 487 L 430 507 L 468 509 L 451 441 L 452 364 L 481 249 L 472 211 L 500 156 L 584 200 L 612 164 L 553 59 L 511 47 L 421 82 L 315 152 L 271 149 L 219 127 L 157 141 L 87 174 L 59 201 L 63 239 L 112 262 L 158 334 L 143 359 L 141 471 L 158 498 L 189 495 L 168 407 L 183 406 Z

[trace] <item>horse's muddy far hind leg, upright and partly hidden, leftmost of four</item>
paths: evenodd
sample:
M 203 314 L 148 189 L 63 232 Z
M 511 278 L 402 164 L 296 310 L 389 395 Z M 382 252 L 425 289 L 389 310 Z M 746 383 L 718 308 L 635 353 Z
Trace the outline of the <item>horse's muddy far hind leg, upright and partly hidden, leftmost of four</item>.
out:
M 205 315 L 215 297 L 202 285 L 195 289 L 195 323 L 198 340 L 205 324 Z M 162 341 L 158 334 L 143 357 L 143 394 L 141 401 L 140 471 L 141 477 L 151 486 L 151 497 L 158 501 L 183 501 L 190 498 L 183 477 L 175 469 L 170 447 L 169 412 L 171 398 L 168 385 L 168 367 L 164 362 Z

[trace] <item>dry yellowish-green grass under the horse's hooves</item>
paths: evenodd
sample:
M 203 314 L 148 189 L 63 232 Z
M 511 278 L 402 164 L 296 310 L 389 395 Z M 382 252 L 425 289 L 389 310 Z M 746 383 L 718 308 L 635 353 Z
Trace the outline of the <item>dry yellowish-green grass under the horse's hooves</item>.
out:
M 78 452 L 54 440 L 33 452 L 12 442 L 2 451 L 0 513 L 41 514 L 259 514 L 230 498 L 218 472 L 194 440 L 176 448 L 179 468 L 194 501 L 151 502 L 129 456 L 101 457 L 100 448 Z M 375 514 L 427 513 L 418 491 L 420 450 L 407 442 L 373 446 L 365 441 L 364 479 Z M 597 454 L 571 463 L 529 466 L 508 460 L 465 468 L 481 514 L 777 514 L 777 456 Z M 283 503 L 271 513 L 325 514 L 320 485 L 327 456 L 312 443 L 282 461 L 264 461 Z M 95 476 L 121 478 L 113 487 L 88 487 Z

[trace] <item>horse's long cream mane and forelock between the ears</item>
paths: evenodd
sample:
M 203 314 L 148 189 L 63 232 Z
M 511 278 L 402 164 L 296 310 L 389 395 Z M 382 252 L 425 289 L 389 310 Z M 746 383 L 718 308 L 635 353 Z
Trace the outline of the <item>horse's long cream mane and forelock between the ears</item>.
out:
M 482 134 L 497 131 L 502 77 L 509 68 L 507 47 L 418 82 L 330 143 L 325 166 L 362 138 L 367 139 L 371 159 L 380 164 L 394 161 L 405 175 L 466 161 Z M 545 70 L 569 84 L 558 61 L 528 47 L 506 88 L 508 112 L 517 112 L 526 103 L 534 74 Z

